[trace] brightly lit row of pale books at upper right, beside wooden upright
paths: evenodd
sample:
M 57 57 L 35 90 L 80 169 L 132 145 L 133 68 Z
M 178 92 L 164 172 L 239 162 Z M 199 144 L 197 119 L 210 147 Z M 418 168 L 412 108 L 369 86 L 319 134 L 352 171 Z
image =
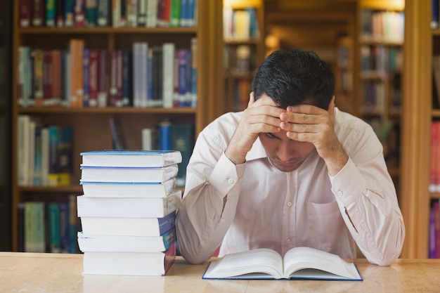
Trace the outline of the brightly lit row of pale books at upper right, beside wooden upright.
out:
M 363 9 L 361 22 L 363 37 L 380 41 L 403 41 L 405 14 L 401 11 Z

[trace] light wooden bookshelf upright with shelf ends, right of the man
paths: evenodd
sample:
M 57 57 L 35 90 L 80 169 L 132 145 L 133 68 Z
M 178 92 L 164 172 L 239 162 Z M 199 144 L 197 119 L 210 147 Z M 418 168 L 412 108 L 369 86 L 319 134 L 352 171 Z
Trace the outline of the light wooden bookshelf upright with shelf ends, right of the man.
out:
M 406 47 L 403 72 L 401 209 L 406 224 L 403 257 L 427 258 L 429 208 L 438 193 L 429 193 L 431 122 L 440 117 L 433 108 L 432 56 L 440 31 L 430 27 L 432 1 L 406 0 Z

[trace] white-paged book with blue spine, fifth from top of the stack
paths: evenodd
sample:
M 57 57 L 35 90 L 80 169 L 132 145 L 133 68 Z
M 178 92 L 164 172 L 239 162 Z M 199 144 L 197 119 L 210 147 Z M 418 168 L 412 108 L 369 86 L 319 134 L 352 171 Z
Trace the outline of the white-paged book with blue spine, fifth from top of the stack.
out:
M 175 227 L 176 211 L 162 217 L 82 216 L 82 232 L 88 235 L 157 237 Z

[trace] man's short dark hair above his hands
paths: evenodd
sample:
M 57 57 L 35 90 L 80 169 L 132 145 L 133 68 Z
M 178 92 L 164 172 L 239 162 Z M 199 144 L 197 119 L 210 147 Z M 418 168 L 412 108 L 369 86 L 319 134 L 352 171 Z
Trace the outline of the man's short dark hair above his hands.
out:
M 279 50 L 271 53 L 257 70 L 252 91 L 255 99 L 266 93 L 280 108 L 308 103 L 328 110 L 335 77 L 313 51 Z

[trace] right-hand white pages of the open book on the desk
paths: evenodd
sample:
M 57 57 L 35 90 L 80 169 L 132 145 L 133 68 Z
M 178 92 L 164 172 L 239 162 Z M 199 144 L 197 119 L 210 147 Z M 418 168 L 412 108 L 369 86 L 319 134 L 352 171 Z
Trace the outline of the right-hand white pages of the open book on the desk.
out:
M 295 273 L 306 268 L 321 271 L 313 272 L 313 270 L 308 270 L 307 273 L 311 273 L 311 275 L 307 276 L 304 275 L 304 272 Z M 289 278 L 290 275 L 298 275 L 301 278 L 323 278 L 322 271 L 324 271 L 335 275 L 327 274 L 327 278 L 361 279 L 354 263 L 347 263 L 335 254 L 311 247 L 295 247 L 286 252 L 284 256 L 284 270 L 285 278 Z

